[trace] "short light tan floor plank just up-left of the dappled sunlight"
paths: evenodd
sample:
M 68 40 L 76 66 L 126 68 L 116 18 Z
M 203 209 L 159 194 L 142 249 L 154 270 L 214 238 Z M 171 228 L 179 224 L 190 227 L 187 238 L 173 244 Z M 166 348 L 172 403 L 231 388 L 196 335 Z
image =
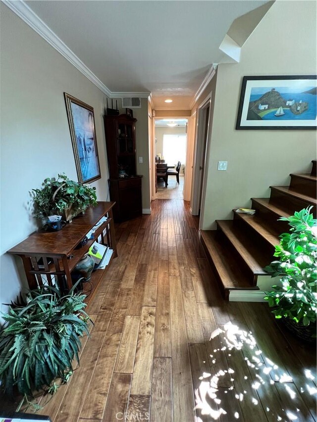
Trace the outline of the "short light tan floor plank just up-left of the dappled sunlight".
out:
M 183 291 L 183 301 L 188 342 L 205 343 L 195 293 Z

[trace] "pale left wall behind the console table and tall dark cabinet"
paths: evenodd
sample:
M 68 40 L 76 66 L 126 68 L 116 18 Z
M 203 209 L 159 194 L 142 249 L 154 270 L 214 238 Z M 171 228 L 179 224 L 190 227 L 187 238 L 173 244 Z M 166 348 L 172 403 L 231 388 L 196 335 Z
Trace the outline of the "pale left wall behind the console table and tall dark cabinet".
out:
M 19 258 L 5 252 L 37 229 L 30 191 L 46 177 L 65 172 L 78 180 L 63 92 L 94 107 L 102 178 L 92 186 L 109 200 L 104 130 L 106 96 L 43 38 L 0 2 L 1 12 L 1 277 L 0 303 L 26 285 Z M 120 100 L 121 103 L 121 100 Z M 119 105 L 119 103 L 118 103 Z M 136 109 L 137 154 L 148 157 L 147 99 Z M 144 145 L 143 145 L 144 144 Z M 143 168 L 145 167 L 145 168 Z M 150 208 L 148 165 L 144 174 L 145 207 Z

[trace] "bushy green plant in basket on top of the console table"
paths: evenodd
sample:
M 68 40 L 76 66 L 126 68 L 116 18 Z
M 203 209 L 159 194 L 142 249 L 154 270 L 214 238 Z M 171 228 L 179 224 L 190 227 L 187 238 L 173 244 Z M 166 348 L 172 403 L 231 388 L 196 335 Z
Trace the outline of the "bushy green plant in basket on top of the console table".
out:
M 89 205 L 97 205 L 96 188 L 70 180 L 64 174 L 58 174 L 57 179 L 45 179 L 42 186 L 41 189 L 32 189 L 35 217 L 61 215 L 64 209 L 70 207 L 72 213 L 76 214 Z

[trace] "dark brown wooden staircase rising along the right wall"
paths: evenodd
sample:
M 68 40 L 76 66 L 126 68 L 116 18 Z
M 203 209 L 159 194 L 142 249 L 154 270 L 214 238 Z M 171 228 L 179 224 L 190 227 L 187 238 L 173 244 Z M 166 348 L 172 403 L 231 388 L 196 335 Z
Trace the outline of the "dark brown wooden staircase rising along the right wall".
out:
M 211 267 L 226 298 L 230 290 L 259 290 L 258 277 L 272 261 L 287 222 L 277 221 L 310 205 L 316 218 L 317 161 L 311 174 L 291 174 L 289 186 L 270 186 L 269 198 L 251 198 L 254 215 L 233 210 L 233 220 L 216 220 L 217 230 L 200 230 Z

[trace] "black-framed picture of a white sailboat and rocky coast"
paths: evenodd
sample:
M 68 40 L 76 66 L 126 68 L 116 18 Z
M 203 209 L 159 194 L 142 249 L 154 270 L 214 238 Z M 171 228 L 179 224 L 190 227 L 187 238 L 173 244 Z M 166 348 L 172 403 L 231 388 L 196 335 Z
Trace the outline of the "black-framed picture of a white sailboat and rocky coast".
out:
M 316 75 L 244 76 L 236 129 L 316 128 Z

